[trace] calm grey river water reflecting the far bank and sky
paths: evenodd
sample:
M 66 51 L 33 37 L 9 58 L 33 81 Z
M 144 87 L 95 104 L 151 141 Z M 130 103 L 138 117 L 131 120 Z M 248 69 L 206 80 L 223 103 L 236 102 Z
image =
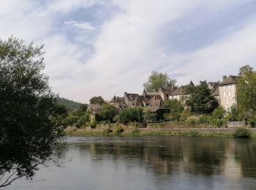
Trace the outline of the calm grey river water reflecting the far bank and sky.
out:
M 66 137 L 59 166 L 6 189 L 256 189 L 256 140 Z

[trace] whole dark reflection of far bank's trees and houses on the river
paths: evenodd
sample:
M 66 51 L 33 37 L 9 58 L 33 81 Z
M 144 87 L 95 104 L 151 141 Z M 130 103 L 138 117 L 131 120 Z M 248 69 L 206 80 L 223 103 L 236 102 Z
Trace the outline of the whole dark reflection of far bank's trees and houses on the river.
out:
M 256 141 L 252 140 L 207 137 L 109 138 L 80 145 L 80 151 L 85 150 L 90 151 L 92 160 L 103 161 L 106 157 L 124 160 L 129 163 L 129 167 L 134 161 L 132 167 L 141 164 L 157 175 L 173 172 L 207 176 L 225 172 L 227 175 L 227 172 L 241 170 L 244 176 L 256 176 Z M 238 168 L 230 170 L 228 167 Z

